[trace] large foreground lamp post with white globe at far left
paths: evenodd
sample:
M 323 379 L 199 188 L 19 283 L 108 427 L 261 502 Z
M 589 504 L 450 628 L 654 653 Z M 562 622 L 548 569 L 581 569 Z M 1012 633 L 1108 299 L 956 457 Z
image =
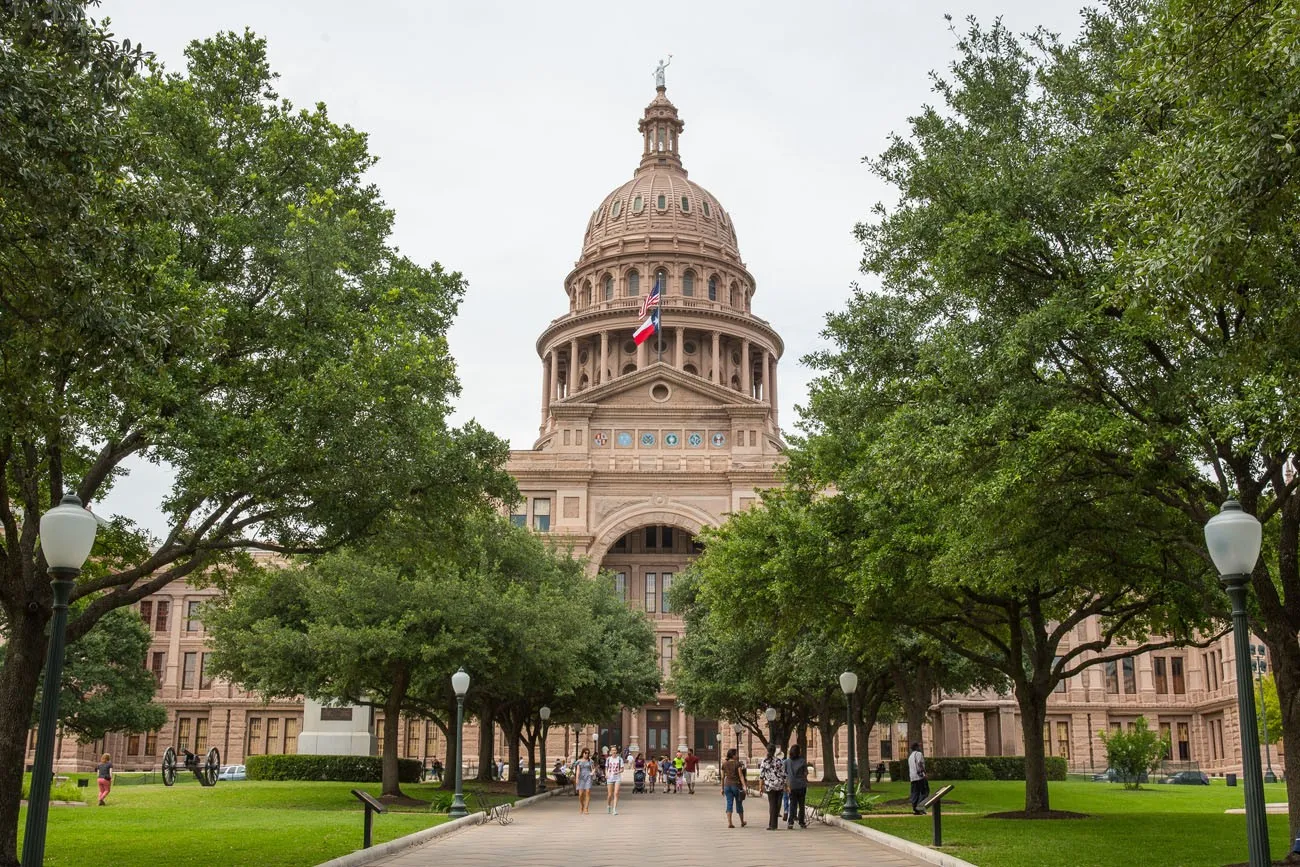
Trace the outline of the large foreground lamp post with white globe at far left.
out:
M 0 497 L 4 497 L 0 493 Z M 95 516 L 68 494 L 40 516 L 40 552 L 53 590 L 53 619 L 46 654 L 46 682 L 40 690 L 40 723 L 36 729 L 36 763 L 31 768 L 27 824 L 22 838 L 23 867 L 40 867 L 46 858 L 46 824 L 49 820 L 49 784 L 55 775 L 55 723 L 64 677 L 64 638 L 68 632 L 68 602 L 77 576 L 95 547 Z

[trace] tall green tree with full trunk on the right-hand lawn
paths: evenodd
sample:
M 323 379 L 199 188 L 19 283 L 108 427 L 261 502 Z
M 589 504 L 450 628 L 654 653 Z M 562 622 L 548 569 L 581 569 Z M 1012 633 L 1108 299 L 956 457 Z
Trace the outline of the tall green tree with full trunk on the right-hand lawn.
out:
M 803 451 L 867 530 L 861 591 L 1006 677 L 1028 812 L 1049 809 L 1054 686 L 1187 642 L 1222 610 L 1200 525 L 1169 495 L 1187 472 L 1165 433 L 1080 387 L 1113 370 L 1121 331 L 1097 302 L 1115 244 L 1096 203 L 1145 131 L 1114 110 L 1145 26 L 1121 4 L 1071 44 L 972 23 L 936 79 L 942 108 L 872 162 L 900 191 L 858 229 L 881 287 L 854 292 L 811 359 Z M 1075 640 L 1093 616 L 1100 638 Z

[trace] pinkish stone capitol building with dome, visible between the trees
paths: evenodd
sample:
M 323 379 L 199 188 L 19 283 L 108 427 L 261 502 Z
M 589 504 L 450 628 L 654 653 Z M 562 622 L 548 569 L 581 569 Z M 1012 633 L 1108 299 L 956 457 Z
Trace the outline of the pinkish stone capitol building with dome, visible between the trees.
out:
M 685 123 L 662 79 L 636 126 L 636 170 L 586 224 L 580 257 L 563 277 L 567 309 L 540 324 L 541 424 L 530 450 L 511 452 L 508 468 L 524 495 L 511 520 L 572 547 L 575 556 L 586 558 L 593 577 L 614 576 L 627 603 L 654 624 L 667 681 L 682 636 L 668 589 L 698 554 L 696 536 L 750 507 L 755 489 L 779 484 L 784 344 L 772 324 L 753 312 L 757 281 L 741 259 L 732 216 L 686 173 Z M 662 325 L 638 344 L 633 333 L 655 289 Z M 87 771 L 107 751 L 118 770 L 157 770 L 170 745 L 200 754 L 216 746 L 224 763 L 298 751 L 303 702 L 266 703 L 208 676 L 198 612 L 214 593 L 177 581 L 139 603 L 155 633 L 147 664 L 159 681 L 157 701 L 168 708 L 165 728 L 86 745 L 60 737 L 56 768 Z M 1096 623 L 1084 623 L 1078 641 L 1096 630 Z M 1230 638 L 1089 668 L 1052 697 L 1048 753 L 1065 757 L 1071 771 L 1101 770 L 1106 758 L 1097 732 L 1144 715 L 1170 737 L 1170 759 L 1206 773 L 1239 772 L 1234 672 Z M 381 720 L 381 714 L 369 720 L 376 738 L 382 737 Z M 445 757 L 433 723 L 408 719 L 400 729 L 403 757 L 425 763 Z M 552 727 L 546 754 L 572 755 L 593 734 L 602 745 L 655 754 L 692 746 L 705 763 L 731 746 L 742 755 L 755 749 L 729 721 L 692 716 L 672 693 L 660 693 L 599 725 Z M 471 764 L 477 737 L 467 725 Z M 809 754 L 820 758 L 816 729 L 809 737 Z M 1010 695 L 936 694 L 922 737 L 931 755 L 1023 754 Z M 911 740 L 902 724 L 876 725 L 871 763 L 902 758 Z M 845 745 L 835 750 L 842 767 Z M 506 753 L 498 732 L 494 754 Z M 1280 772 L 1280 755 L 1274 762 Z

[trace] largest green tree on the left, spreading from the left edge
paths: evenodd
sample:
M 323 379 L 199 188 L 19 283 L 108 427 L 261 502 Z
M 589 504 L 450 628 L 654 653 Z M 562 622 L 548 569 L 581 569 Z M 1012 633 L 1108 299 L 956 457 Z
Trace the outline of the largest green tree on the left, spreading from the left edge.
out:
M 365 135 L 281 100 L 251 34 L 192 43 L 185 74 L 138 61 L 82 4 L 4 3 L 0 864 L 51 616 L 36 528 L 66 489 L 176 469 L 164 537 L 78 584 L 78 641 L 239 549 L 455 511 L 506 455 L 447 426 L 463 281 L 394 250 Z

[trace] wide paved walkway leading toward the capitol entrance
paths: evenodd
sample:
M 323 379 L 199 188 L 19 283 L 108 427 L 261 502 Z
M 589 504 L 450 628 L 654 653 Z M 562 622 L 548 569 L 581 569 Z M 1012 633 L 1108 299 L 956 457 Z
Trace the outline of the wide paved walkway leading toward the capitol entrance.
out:
M 727 828 L 714 785 L 690 794 L 623 794 L 619 815 L 604 812 L 604 792 L 592 812 L 556 796 L 516 811 L 510 825 L 471 827 L 373 862 L 373 867 L 918 867 L 923 862 L 846 831 L 812 823 L 767 831 L 767 801 L 746 799 L 749 827 Z

